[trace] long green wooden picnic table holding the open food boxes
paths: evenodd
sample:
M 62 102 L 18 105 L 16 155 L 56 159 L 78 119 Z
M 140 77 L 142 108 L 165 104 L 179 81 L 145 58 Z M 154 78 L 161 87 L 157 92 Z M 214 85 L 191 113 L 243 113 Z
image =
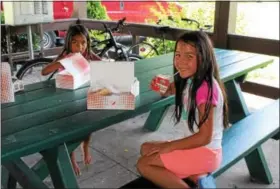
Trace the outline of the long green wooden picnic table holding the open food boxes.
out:
M 236 123 L 249 114 L 238 82 L 248 72 L 267 66 L 273 58 L 223 49 L 215 49 L 215 54 L 228 91 L 230 120 Z M 133 111 L 88 111 L 88 85 L 75 91 L 56 89 L 54 81 L 26 86 L 14 103 L 1 106 L 1 162 L 7 173 L 2 174 L 2 185 L 15 188 L 18 182 L 23 188 L 47 188 L 42 180 L 50 174 L 55 188 L 78 188 L 69 153 L 89 133 L 149 111 L 144 128 L 157 130 L 166 109 L 174 104 L 174 97 L 162 98 L 149 89 L 149 83 L 156 74 L 172 74 L 172 58 L 170 53 L 136 62 L 140 95 Z M 33 153 L 43 158 L 29 168 L 21 157 Z M 249 170 L 268 170 L 261 153 L 260 147 L 251 153 L 250 159 L 259 164 L 247 162 Z M 269 175 L 269 171 L 265 173 Z

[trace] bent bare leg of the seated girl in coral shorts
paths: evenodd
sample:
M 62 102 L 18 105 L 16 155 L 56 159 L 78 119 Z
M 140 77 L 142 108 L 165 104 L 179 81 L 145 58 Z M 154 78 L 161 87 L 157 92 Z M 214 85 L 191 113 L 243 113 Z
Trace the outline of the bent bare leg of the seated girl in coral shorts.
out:
M 162 188 L 189 188 L 181 178 L 164 167 L 159 154 L 140 157 L 137 168 L 143 177 Z

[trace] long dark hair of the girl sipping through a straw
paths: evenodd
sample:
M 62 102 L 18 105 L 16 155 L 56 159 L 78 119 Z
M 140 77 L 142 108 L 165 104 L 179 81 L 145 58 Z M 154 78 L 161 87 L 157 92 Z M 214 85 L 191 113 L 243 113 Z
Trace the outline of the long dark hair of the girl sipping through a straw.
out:
M 218 82 L 224 99 L 223 104 L 223 125 L 224 127 L 228 127 L 228 106 L 227 106 L 227 98 L 224 85 L 220 79 L 218 65 L 215 58 L 215 53 L 213 49 L 213 45 L 208 37 L 208 35 L 202 31 L 190 31 L 183 34 L 176 42 L 175 51 L 177 48 L 177 44 L 179 41 L 183 41 L 188 43 L 196 48 L 196 57 L 197 57 L 197 72 L 194 74 L 192 78 L 192 82 L 190 84 L 189 98 L 188 98 L 188 127 L 194 132 L 194 123 L 198 128 L 202 126 L 202 124 L 206 121 L 209 116 L 211 101 L 213 98 L 213 78 Z M 175 61 L 175 53 L 173 62 Z M 174 66 L 174 74 L 178 72 L 176 67 Z M 183 108 L 183 91 L 185 90 L 186 84 L 190 78 L 181 78 L 180 74 L 176 74 L 174 76 L 175 82 L 175 120 L 178 123 L 181 119 L 182 108 Z M 208 95 L 207 102 L 205 105 L 205 114 L 202 117 L 202 120 L 197 123 L 195 118 L 195 111 L 197 109 L 196 104 L 196 93 L 202 83 L 206 81 L 208 85 Z

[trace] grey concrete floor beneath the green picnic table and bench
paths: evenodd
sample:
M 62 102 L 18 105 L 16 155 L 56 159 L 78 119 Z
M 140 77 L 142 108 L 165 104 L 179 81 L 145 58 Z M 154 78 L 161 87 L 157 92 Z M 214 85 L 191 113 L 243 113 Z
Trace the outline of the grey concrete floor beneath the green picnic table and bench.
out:
M 272 100 L 244 94 L 250 111 L 270 103 Z M 256 100 L 258 104 L 254 103 Z M 184 136 L 183 124 L 173 126 L 173 107 L 169 109 L 161 127 L 156 132 L 143 130 L 148 113 L 115 124 L 92 134 L 91 152 L 93 163 L 86 168 L 82 163 L 80 148 L 76 150 L 82 175 L 80 188 L 118 188 L 139 176 L 135 163 L 139 157 L 139 147 L 145 141 L 176 139 Z M 269 140 L 263 145 L 273 184 L 264 185 L 250 180 L 244 160 L 241 160 L 217 178 L 218 188 L 279 188 L 279 141 Z M 39 155 L 24 158 L 29 165 L 34 164 Z M 49 178 L 46 184 L 52 186 Z

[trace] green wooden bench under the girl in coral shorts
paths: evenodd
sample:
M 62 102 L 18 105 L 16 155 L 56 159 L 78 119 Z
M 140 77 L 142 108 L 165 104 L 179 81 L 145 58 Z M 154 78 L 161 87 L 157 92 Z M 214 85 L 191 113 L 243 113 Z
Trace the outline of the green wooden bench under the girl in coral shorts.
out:
M 225 130 L 223 136 L 223 162 L 218 170 L 199 178 L 199 188 L 216 188 L 215 179 L 242 158 L 246 159 L 250 175 L 266 184 L 272 183 L 272 176 L 266 164 L 261 145 L 268 139 L 279 140 L 279 99 Z M 259 163 L 262 163 L 260 166 Z M 195 186 L 188 178 L 190 186 Z M 139 177 L 121 188 L 159 188 Z

